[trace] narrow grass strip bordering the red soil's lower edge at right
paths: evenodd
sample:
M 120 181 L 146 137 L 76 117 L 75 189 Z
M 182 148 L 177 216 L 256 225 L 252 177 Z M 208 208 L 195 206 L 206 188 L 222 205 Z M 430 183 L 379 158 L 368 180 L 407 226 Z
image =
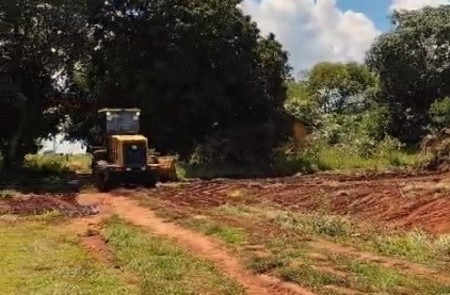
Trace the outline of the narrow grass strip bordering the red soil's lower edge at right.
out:
M 436 267 L 450 261 L 450 236 L 433 238 L 421 231 L 379 231 L 338 215 L 262 211 L 263 218 L 302 236 L 321 236 L 361 250 Z M 261 214 L 261 213 L 260 213 Z

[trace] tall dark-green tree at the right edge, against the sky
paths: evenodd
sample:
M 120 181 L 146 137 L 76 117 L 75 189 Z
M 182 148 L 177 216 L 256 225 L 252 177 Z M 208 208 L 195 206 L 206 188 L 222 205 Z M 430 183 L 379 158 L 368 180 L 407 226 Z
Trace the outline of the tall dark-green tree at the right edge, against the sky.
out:
M 450 94 L 450 5 L 394 12 L 393 29 L 367 54 L 380 79 L 382 102 L 389 105 L 390 133 L 417 142 L 429 122 L 428 110 Z

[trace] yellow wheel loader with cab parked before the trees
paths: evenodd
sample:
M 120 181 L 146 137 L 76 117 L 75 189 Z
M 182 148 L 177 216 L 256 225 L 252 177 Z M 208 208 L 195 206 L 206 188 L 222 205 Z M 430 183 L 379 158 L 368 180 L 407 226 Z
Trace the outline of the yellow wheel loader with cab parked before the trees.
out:
M 159 158 L 149 150 L 147 137 L 139 134 L 140 109 L 102 109 L 104 134 L 92 148 L 92 173 L 99 190 L 119 184 L 153 187 L 158 181 L 176 180 L 175 161 Z

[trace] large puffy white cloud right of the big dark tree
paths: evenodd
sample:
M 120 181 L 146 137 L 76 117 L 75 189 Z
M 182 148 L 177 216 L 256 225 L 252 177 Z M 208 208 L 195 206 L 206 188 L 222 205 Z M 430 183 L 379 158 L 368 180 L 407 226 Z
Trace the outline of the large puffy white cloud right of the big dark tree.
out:
M 380 34 L 366 15 L 342 11 L 335 0 L 244 0 L 241 7 L 263 34 L 277 36 L 295 73 L 321 61 L 362 61 Z

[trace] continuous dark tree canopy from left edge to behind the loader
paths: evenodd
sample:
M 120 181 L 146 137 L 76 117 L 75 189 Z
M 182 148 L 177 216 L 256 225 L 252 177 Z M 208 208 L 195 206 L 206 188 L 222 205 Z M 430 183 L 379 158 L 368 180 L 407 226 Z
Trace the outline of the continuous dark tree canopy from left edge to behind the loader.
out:
M 31 146 L 60 123 L 71 139 L 93 143 L 103 107 L 141 108 L 150 144 L 185 158 L 196 150 L 250 161 L 283 139 L 287 53 L 239 1 L 47 2 L 0 7 L 2 69 L 13 87 L 1 99 L 21 97 L 27 110 L 12 107 L 23 116 L 11 116 L 4 148 L 16 137 Z

